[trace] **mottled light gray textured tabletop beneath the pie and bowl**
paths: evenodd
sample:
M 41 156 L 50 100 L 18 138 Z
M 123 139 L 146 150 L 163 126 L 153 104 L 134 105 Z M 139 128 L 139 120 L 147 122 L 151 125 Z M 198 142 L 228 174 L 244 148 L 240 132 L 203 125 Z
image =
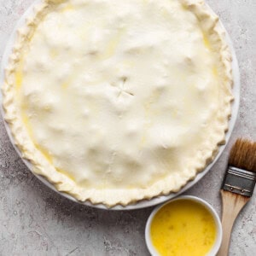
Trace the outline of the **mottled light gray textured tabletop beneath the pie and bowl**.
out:
M 0 0 L 0 61 L 15 22 L 32 0 Z M 224 154 L 186 193 L 220 212 L 218 189 L 236 137 L 256 140 L 256 1 L 209 0 L 236 48 L 241 108 Z M 107 212 L 83 207 L 52 192 L 27 170 L 0 120 L 0 255 L 148 255 L 144 226 L 152 208 Z M 256 193 L 236 221 L 230 255 L 256 255 Z

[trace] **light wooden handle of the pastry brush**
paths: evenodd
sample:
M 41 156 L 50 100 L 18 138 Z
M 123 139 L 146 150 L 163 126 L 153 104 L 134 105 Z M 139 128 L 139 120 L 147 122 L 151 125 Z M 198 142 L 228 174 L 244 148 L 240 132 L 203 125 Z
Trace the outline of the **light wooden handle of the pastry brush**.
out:
M 228 256 L 230 246 L 230 235 L 233 224 L 241 208 L 249 201 L 249 197 L 238 195 L 229 191 L 220 190 L 222 197 L 222 228 L 223 240 L 218 251 L 218 256 Z

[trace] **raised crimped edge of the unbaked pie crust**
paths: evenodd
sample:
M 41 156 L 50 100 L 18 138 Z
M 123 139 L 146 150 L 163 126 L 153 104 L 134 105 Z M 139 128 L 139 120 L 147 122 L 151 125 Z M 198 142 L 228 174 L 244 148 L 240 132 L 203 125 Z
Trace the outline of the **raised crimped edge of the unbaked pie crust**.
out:
M 101 2 L 101 1 L 97 1 Z M 108 1 L 103 1 L 108 3 Z M 148 1 L 154 2 L 154 1 Z M 165 3 L 165 1 L 160 1 Z M 170 173 L 164 179 L 156 180 L 154 183 L 141 185 L 138 188 L 128 189 L 117 185 L 110 188 L 93 188 L 88 185 L 83 187 L 75 178 L 67 175 L 67 172 L 59 172 L 55 166 L 45 157 L 45 154 L 32 141 L 26 129 L 26 125 L 20 117 L 20 103 L 17 100 L 17 71 L 22 61 L 22 52 L 30 44 L 38 25 L 44 17 L 52 12 L 56 6 L 72 3 L 73 5 L 90 3 L 90 0 L 45 0 L 35 8 L 34 15 L 26 21 L 18 31 L 13 53 L 9 58 L 9 65 L 6 68 L 5 81 L 3 84 L 3 109 L 5 119 L 9 123 L 15 144 L 20 149 L 22 157 L 32 163 L 32 171 L 46 177 L 53 183 L 59 191 L 72 195 L 79 201 L 90 201 L 92 204 L 103 203 L 107 207 L 115 205 L 127 205 L 143 199 L 151 199 L 158 195 L 168 195 L 170 192 L 177 192 L 189 180 L 194 179 L 198 172 L 201 172 L 210 163 L 218 152 L 219 144 L 224 143 L 225 131 L 228 130 L 228 120 L 230 118 L 230 105 L 233 100 L 231 88 L 233 84 L 231 71 L 230 49 L 225 41 L 224 30 L 218 23 L 218 16 L 213 15 L 203 1 L 197 0 L 173 0 L 172 2 L 182 3 L 183 8 L 189 10 L 199 20 L 201 31 L 207 33 L 207 43 L 211 45 L 212 54 L 218 55 L 218 77 L 221 78 L 219 91 L 221 98 L 218 100 L 216 118 L 207 130 L 209 136 L 204 142 L 204 148 L 193 155 L 193 160 L 189 159 L 189 166 L 185 170 Z M 133 92 L 131 91 L 131 95 Z M 149 160 L 148 160 L 149 161 Z M 125 177 L 128 179 L 128 177 Z M 139 183 L 139 181 L 138 181 Z M 143 182 L 142 182 L 143 183 Z

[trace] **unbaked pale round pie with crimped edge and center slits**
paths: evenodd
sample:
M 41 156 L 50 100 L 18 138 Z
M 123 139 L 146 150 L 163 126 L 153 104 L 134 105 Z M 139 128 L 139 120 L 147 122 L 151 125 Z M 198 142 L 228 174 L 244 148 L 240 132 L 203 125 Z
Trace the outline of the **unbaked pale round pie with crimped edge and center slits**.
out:
M 230 62 L 202 1 L 44 1 L 9 58 L 5 119 L 33 172 L 79 201 L 167 195 L 224 143 Z

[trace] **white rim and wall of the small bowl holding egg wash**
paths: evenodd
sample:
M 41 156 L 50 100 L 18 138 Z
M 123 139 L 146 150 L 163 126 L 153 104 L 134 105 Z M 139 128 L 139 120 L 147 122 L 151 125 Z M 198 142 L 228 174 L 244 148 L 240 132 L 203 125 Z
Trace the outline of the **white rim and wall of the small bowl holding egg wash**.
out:
M 200 203 L 203 207 L 207 208 L 208 212 L 210 212 L 212 214 L 212 218 L 214 219 L 214 222 L 215 222 L 215 225 L 216 225 L 217 237 L 215 239 L 215 242 L 212 246 L 211 251 L 209 253 L 207 253 L 207 256 L 215 256 L 218 253 L 218 249 L 221 245 L 222 235 L 223 235 L 222 234 L 222 225 L 221 225 L 220 219 L 218 217 L 218 213 L 212 208 L 212 206 L 209 203 L 207 203 L 207 201 L 204 201 L 201 198 L 195 197 L 195 196 L 192 196 L 192 195 L 179 196 L 176 199 L 173 199 L 171 201 L 167 201 L 166 203 L 160 205 L 160 207 L 156 207 L 154 209 L 154 211 L 151 212 L 150 216 L 148 217 L 148 221 L 147 221 L 147 224 L 146 224 L 146 230 L 145 230 L 146 244 L 147 244 L 149 253 L 151 253 L 151 255 L 153 255 L 153 256 L 159 256 L 159 253 L 156 252 L 156 250 L 154 248 L 154 245 L 151 241 L 151 237 L 150 237 L 151 223 L 152 223 L 152 220 L 153 220 L 155 214 L 157 212 L 159 212 L 159 210 L 162 207 L 166 206 L 167 204 L 172 203 L 173 201 L 179 201 L 179 200 L 189 200 L 189 201 L 195 201 L 197 203 Z

